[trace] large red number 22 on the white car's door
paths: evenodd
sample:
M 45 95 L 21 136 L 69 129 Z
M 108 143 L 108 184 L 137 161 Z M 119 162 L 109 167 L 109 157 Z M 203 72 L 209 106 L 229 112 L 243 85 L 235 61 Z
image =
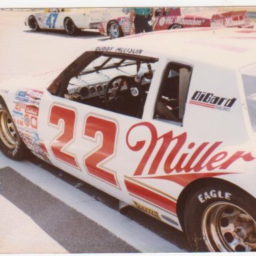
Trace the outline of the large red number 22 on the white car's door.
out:
M 50 143 L 50 148 L 55 159 L 81 170 L 75 154 L 69 153 L 65 148 L 75 139 L 77 112 L 61 105 L 53 105 L 50 110 L 49 125 L 59 129 L 60 133 Z M 99 148 L 92 153 L 87 153 L 83 159 L 84 167 L 89 175 L 101 179 L 106 183 L 119 188 L 116 174 L 100 164 L 115 153 L 117 124 L 113 121 L 89 115 L 85 119 L 83 137 L 96 141 L 96 136 L 101 137 Z

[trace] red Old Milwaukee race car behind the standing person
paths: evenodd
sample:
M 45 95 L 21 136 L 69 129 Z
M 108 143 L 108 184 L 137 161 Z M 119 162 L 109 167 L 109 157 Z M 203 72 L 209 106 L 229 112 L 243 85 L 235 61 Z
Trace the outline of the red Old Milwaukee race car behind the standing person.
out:
M 162 7 L 155 9 L 153 30 L 181 29 L 185 27 L 244 27 L 254 23 L 246 11 L 219 11 L 215 7 Z M 111 39 L 129 35 L 129 15 L 101 21 L 99 31 Z

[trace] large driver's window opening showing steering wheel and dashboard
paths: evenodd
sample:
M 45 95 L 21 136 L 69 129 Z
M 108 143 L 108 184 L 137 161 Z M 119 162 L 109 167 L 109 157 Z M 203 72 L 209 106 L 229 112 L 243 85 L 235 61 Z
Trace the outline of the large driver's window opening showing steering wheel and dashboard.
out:
M 88 56 L 79 57 L 63 71 L 49 91 L 92 107 L 142 118 L 158 59 L 105 52 Z

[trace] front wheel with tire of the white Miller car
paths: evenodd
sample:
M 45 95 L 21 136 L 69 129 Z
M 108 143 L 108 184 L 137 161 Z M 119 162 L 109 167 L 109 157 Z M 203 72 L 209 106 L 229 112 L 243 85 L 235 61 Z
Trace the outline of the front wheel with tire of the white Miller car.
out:
M 0 149 L 13 160 L 22 160 L 30 155 L 2 99 L 0 99 Z

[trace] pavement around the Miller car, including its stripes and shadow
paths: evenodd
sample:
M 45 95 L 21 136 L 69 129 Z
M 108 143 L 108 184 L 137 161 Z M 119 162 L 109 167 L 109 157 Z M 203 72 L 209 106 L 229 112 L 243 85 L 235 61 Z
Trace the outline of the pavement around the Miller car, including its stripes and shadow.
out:
M 31 32 L 28 13 L 0 11 L 0 81 L 61 70 L 107 37 L 83 31 Z M 0 253 L 180 253 L 184 233 L 31 157 L 0 153 Z

